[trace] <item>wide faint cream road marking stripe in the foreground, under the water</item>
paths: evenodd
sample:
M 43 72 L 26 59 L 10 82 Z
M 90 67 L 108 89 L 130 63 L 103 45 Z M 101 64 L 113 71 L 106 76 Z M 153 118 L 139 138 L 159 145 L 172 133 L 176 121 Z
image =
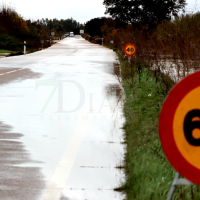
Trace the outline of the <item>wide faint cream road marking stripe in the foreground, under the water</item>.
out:
M 61 158 L 51 181 L 44 191 L 41 200 L 60 200 L 62 196 L 62 190 L 67 184 L 68 177 L 70 175 L 71 169 L 76 160 L 78 150 L 80 148 L 81 141 L 84 137 L 88 120 L 83 120 L 73 133 L 72 138 Z

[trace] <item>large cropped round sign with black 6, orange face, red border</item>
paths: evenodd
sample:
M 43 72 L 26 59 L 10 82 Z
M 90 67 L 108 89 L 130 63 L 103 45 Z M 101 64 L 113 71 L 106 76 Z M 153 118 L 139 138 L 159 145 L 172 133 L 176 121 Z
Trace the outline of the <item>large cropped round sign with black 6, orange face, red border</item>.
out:
M 184 78 L 169 93 L 160 114 L 159 135 L 176 171 L 200 185 L 200 72 Z

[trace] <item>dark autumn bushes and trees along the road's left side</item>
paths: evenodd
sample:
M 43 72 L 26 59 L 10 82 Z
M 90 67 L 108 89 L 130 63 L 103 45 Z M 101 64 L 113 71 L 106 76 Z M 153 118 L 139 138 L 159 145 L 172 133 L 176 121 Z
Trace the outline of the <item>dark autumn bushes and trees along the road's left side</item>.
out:
M 77 34 L 83 28 L 73 18 L 25 20 L 13 7 L 0 4 L 0 49 L 23 51 L 26 41 L 28 52 L 38 51 L 42 48 L 41 40 L 44 40 L 43 48 L 47 48 L 50 39 L 60 39 L 70 31 Z M 51 32 L 55 33 L 54 37 Z

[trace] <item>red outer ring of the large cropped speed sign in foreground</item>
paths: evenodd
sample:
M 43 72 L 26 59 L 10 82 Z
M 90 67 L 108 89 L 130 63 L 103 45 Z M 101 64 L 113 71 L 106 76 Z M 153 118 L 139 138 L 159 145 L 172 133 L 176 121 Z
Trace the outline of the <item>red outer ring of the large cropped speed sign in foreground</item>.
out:
M 159 117 L 159 135 L 162 148 L 172 166 L 182 176 L 200 185 L 200 170 L 191 165 L 179 152 L 173 136 L 173 119 L 181 100 L 200 86 L 200 71 L 179 82 L 167 96 Z

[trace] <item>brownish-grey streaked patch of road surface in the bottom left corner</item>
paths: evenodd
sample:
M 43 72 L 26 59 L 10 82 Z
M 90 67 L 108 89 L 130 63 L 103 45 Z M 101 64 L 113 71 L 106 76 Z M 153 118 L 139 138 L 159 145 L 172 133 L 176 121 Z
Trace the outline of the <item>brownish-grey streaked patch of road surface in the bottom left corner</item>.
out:
M 39 199 L 45 187 L 44 177 L 38 167 L 17 165 L 37 163 L 19 141 L 22 134 L 0 122 L 0 199 Z

